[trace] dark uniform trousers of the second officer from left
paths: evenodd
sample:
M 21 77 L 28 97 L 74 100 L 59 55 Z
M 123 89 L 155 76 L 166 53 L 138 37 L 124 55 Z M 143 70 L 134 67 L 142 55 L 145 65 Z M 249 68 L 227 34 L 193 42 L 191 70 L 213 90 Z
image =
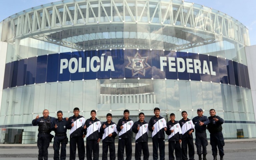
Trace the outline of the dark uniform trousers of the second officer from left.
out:
M 54 136 L 54 142 L 53 142 L 53 150 L 54 150 L 54 160 L 65 160 L 66 159 L 66 140 L 67 136 Z M 61 150 L 60 150 L 60 144 L 61 144 Z M 60 150 L 60 152 L 59 152 Z M 60 157 L 59 157 L 60 155 Z

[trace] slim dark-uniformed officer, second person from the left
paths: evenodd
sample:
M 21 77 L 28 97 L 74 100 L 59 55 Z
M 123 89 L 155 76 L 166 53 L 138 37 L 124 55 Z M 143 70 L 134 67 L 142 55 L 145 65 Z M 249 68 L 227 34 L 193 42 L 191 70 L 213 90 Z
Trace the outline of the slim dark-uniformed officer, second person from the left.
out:
M 52 126 L 54 128 L 55 137 L 53 142 L 53 149 L 54 149 L 54 160 L 65 160 L 66 159 L 66 146 L 68 143 L 68 137 L 67 137 L 67 126 L 69 125 L 69 122 L 62 118 L 63 113 L 62 111 L 57 112 L 58 119 L 55 119 L 53 121 Z M 59 150 L 60 150 L 60 144 L 61 144 L 61 152 L 59 157 Z

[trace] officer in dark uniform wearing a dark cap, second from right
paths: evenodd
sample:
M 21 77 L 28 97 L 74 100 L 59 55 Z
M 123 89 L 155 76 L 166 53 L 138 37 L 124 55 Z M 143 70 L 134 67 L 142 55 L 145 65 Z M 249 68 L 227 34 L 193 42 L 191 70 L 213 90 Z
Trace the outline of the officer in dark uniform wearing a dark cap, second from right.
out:
M 208 145 L 207 141 L 207 135 L 206 135 L 206 125 L 209 123 L 209 119 L 206 116 L 203 116 L 203 110 L 201 108 L 197 109 L 197 115 L 192 119 L 194 125 L 195 125 L 195 131 L 196 131 L 196 149 L 198 154 L 198 159 L 202 160 L 202 154 L 203 154 L 203 160 L 206 160 L 206 146 Z M 203 152 L 202 152 L 203 148 Z

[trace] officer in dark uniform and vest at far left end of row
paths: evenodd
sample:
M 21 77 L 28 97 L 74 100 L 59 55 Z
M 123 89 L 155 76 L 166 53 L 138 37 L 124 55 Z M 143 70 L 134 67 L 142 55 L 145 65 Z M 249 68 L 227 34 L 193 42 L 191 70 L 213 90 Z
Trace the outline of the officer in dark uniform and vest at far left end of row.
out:
M 43 117 L 36 116 L 32 121 L 33 126 L 38 125 L 37 147 L 38 147 L 38 160 L 48 160 L 48 147 L 51 141 L 51 128 L 54 117 L 49 116 L 49 111 L 43 111 Z

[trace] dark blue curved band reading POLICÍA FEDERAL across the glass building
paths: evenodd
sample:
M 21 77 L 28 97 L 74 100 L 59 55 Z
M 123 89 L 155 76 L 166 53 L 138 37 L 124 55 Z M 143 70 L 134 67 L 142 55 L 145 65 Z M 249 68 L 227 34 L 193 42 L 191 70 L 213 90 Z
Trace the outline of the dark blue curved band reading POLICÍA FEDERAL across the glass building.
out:
M 180 79 L 250 88 L 247 66 L 205 54 L 161 50 L 56 53 L 7 63 L 4 86 L 92 79 Z

